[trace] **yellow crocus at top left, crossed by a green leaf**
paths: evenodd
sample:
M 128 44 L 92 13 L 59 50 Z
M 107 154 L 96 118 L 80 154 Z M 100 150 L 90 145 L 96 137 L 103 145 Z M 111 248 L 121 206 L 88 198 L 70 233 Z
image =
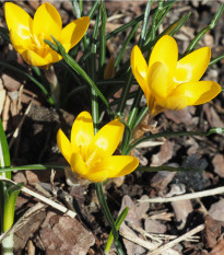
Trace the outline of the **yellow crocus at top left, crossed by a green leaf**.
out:
M 68 53 L 81 40 L 90 24 L 90 18 L 83 16 L 62 28 L 61 16 L 50 3 L 43 3 L 36 10 L 34 19 L 12 2 L 7 2 L 4 10 L 10 39 L 15 50 L 28 65 L 45 69 L 59 61 L 61 56 L 44 39 L 52 42 L 52 35 Z

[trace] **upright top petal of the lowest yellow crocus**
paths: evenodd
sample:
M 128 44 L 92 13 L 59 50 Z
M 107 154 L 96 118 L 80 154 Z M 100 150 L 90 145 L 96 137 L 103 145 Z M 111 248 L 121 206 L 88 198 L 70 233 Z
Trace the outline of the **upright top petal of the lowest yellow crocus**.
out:
M 80 151 L 83 160 L 86 157 L 86 149 L 94 138 L 93 119 L 90 113 L 82 112 L 75 118 L 71 130 L 71 146 L 73 152 Z

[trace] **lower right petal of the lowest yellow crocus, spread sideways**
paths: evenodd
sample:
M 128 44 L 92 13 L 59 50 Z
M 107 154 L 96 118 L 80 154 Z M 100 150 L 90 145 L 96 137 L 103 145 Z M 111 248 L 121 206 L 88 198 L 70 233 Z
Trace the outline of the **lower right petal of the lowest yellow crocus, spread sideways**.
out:
M 133 172 L 139 165 L 139 160 L 131 155 L 111 155 L 102 160 L 91 170 L 91 174 L 107 171 L 108 178 L 115 178 Z

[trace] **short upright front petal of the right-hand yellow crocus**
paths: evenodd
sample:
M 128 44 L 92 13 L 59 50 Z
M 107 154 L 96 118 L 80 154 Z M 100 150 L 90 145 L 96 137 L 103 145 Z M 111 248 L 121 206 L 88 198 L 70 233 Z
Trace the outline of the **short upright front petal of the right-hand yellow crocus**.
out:
M 153 96 L 165 98 L 170 92 L 167 76 L 167 69 L 162 62 L 155 62 L 151 66 L 148 74 L 148 83 Z

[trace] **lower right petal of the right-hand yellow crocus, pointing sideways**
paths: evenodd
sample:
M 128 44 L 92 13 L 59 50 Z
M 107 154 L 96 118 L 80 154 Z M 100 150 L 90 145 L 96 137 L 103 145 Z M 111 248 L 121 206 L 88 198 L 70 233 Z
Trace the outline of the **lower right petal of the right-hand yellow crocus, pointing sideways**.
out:
M 221 92 L 221 86 L 213 81 L 198 81 L 180 84 L 165 102 L 169 109 L 182 109 L 188 105 L 204 104 Z

